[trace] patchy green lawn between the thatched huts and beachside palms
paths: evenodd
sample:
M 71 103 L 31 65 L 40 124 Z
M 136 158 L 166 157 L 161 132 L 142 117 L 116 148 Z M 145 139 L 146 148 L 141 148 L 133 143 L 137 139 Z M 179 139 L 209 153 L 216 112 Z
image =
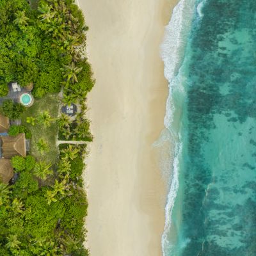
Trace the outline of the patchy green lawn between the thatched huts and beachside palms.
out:
M 58 162 L 59 150 L 56 147 L 56 140 L 58 137 L 58 124 L 56 121 L 51 123 L 50 127 L 45 127 L 42 124 L 36 122 L 35 126 L 27 124 L 26 118 L 28 116 L 33 116 L 37 118 L 39 113 L 44 111 L 49 111 L 52 118 L 58 117 L 60 100 L 58 98 L 58 93 L 48 93 L 42 99 L 35 99 L 33 106 L 28 108 L 21 116 L 22 125 L 28 127 L 32 132 L 32 138 L 30 143 L 30 154 L 36 157 L 37 160 L 44 160 L 52 163 L 52 166 Z M 49 145 L 49 150 L 41 154 L 38 152 L 36 143 L 43 138 Z

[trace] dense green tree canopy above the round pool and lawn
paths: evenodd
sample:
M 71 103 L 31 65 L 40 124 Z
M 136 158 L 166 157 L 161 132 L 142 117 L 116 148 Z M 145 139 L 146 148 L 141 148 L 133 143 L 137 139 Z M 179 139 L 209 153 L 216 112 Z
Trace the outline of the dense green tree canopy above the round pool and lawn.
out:
M 33 10 L 26 0 L 1 0 L 0 8 L 1 95 L 11 81 L 33 82 L 36 97 L 59 92 L 61 82 L 76 97 L 92 89 L 91 67 L 77 50 L 88 27 L 73 1 L 41 0 Z

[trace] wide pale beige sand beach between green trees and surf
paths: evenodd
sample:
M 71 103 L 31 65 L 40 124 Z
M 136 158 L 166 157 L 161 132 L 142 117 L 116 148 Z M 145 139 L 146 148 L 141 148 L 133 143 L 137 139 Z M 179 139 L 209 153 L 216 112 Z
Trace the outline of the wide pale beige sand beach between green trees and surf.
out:
M 168 84 L 159 45 L 170 0 L 79 0 L 97 80 L 88 95 L 95 137 L 87 159 L 92 256 L 161 255 L 165 188 L 152 143 Z

